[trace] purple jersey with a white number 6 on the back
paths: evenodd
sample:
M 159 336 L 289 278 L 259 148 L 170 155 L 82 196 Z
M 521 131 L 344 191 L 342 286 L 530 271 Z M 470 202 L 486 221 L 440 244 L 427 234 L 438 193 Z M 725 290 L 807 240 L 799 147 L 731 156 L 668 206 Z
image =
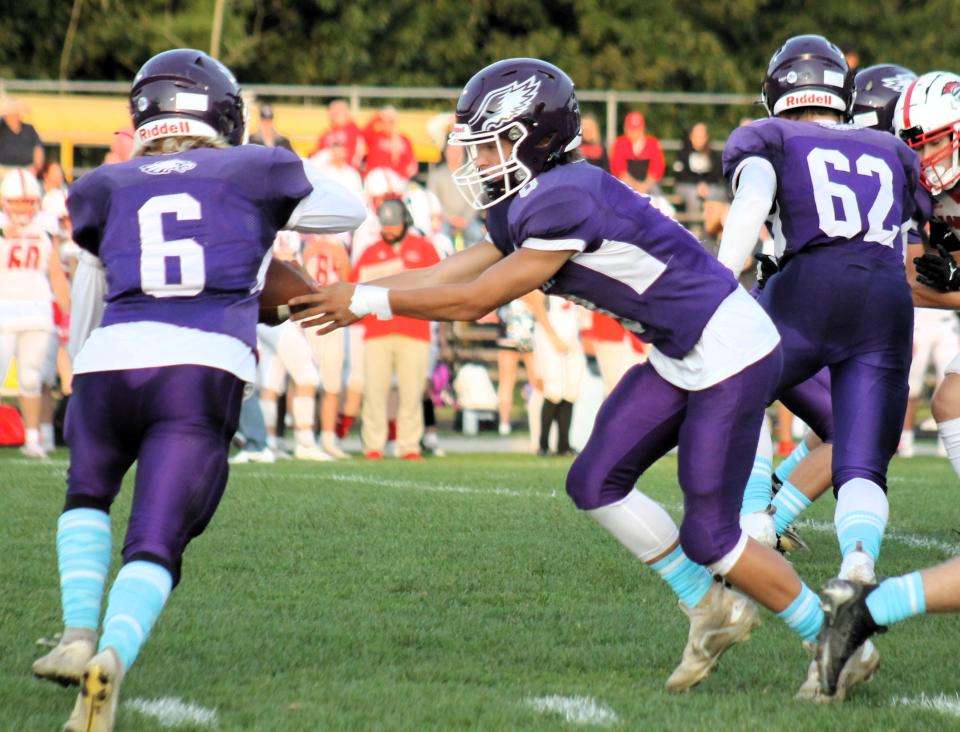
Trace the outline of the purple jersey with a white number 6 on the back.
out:
M 107 271 L 101 325 L 157 321 L 256 348 L 258 276 L 312 186 L 293 153 L 260 145 L 134 158 L 70 190 L 74 239 Z

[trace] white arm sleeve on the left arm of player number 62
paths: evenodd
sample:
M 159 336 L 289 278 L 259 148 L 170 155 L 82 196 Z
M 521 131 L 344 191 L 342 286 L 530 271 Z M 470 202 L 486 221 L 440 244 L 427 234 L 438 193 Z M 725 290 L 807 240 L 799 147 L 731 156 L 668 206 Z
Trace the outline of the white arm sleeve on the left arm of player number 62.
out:
M 723 227 L 717 259 L 737 276 L 753 251 L 773 205 L 777 175 L 769 161 L 747 158 L 737 167 L 732 183 L 735 193 Z

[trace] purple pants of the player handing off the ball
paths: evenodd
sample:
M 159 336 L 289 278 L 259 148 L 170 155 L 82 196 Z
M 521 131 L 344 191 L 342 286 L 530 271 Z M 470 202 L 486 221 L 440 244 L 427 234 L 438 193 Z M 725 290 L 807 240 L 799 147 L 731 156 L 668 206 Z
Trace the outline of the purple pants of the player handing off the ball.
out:
M 740 539 L 743 490 L 780 367 L 776 348 L 719 384 L 685 391 L 649 362 L 634 366 L 600 407 L 567 475 L 567 493 L 584 510 L 619 501 L 647 468 L 679 446 L 680 543 L 695 562 L 718 561 Z

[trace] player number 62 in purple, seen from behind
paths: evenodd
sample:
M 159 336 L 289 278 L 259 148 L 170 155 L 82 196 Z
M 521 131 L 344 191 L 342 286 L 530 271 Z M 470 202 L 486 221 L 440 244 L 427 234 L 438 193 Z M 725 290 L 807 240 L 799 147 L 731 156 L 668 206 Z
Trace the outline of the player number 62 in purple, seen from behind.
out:
M 734 200 L 718 256 L 742 262 L 772 218 L 780 272 L 760 303 L 783 338 L 778 389 L 829 367 L 840 573 L 872 579 L 911 359 L 906 233 L 922 199 L 906 145 L 844 123 L 852 85 L 842 52 L 822 36 L 795 36 L 773 54 L 762 87 L 770 118 L 734 130 L 724 150 Z M 799 491 L 793 498 L 809 505 Z M 878 664 L 876 649 L 862 646 L 835 697 Z M 800 695 L 821 693 L 814 662 Z

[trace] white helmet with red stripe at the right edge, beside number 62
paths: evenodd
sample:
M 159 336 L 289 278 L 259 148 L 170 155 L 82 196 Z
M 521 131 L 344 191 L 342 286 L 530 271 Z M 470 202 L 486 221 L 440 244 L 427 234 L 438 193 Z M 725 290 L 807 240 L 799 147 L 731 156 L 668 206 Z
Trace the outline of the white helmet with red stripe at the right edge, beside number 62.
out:
M 930 71 L 908 86 L 893 113 L 894 131 L 920 155 L 920 183 L 933 195 L 960 181 L 960 76 Z M 924 147 L 942 143 L 926 154 Z

